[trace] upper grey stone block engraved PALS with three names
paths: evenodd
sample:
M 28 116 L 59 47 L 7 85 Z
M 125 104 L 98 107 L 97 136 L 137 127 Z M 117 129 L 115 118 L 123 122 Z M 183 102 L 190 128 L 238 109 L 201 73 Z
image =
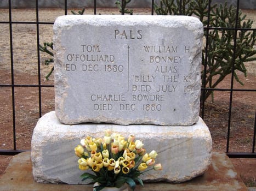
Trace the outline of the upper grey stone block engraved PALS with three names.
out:
M 203 26 L 188 16 L 61 16 L 54 23 L 62 123 L 198 121 Z

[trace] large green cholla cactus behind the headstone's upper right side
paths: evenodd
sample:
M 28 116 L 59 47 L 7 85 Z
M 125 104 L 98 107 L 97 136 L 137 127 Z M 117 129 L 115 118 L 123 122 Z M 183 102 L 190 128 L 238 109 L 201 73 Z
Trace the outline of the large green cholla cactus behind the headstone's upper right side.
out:
M 179 0 L 162 0 L 160 5 L 155 4 L 155 11 L 158 15 L 192 15 L 197 16 L 206 27 L 208 22 L 208 0 L 185 0 L 180 6 Z M 245 62 L 255 61 L 254 49 L 256 31 L 249 31 L 253 21 L 245 20 L 246 15 L 238 14 L 237 28 L 244 28 L 235 32 L 236 8 L 232 5 L 213 4 L 210 8 L 209 26 L 215 27 L 209 32 L 204 31 L 204 36 L 208 35 L 208 47 L 204 44 L 202 54 L 202 86 L 215 88 L 230 73 L 232 73 L 232 63 L 234 65 L 234 77 L 237 82 L 243 85 L 238 78 L 237 70 L 244 76 L 247 75 Z M 221 28 L 221 29 L 219 29 Z M 225 29 L 227 28 L 227 29 Z M 236 49 L 235 49 L 236 44 Z M 234 50 L 236 52 L 234 53 Z M 206 55 L 207 53 L 207 55 Z M 206 59 L 207 58 L 207 59 Z M 205 80 L 204 80 L 205 77 Z M 203 92 L 202 92 L 203 93 Z M 204 99 L 212 95 L 213 91 L 206 90 Z M 201 100 L 203 99 L 201 94 Z

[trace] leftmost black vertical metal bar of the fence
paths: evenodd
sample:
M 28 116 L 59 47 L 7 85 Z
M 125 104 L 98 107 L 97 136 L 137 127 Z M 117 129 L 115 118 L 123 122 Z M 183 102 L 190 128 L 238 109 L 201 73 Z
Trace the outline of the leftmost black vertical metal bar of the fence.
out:
M 12 1 L 9 0 L 9 35 L 10 35 L 10 70 L 12 75 L 12 106 L 13 106 L 13 150 L 16 150 L 16 122 L 15 122 L 15 92 L 14 92 L 14 67 L 13 67 L 13 26 L 12 26 Z

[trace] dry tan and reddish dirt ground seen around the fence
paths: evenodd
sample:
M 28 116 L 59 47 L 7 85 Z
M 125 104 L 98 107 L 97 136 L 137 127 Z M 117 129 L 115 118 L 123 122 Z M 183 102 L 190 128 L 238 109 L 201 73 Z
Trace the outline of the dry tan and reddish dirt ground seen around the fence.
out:
M 118 14 L 117 9 L 98 9 L 101 14 Z M 70 11 L 68 11 L 70 14 Z M 150 14 L 150 9 L 135 9 L 134 14 Z M 248 19 L 254 20 L 256 25 L 256 11 L 243 10 Z M 93 14 L 93 10 L 86 10 L 86 14 Z M 64 15 L 61 9 L 40 9 L 39 21 L 54 22 L 57 16 Z M 36 21 L 35 10 L 13 9 L 13 21 Z M 0 21 L 9 21 L 8 10 L 0 9 Z M 10 42 L 9 25 L 0 24 L 0 84 L 12 83 L 10 75 Z M 39 25 L 40 43 L 52 41 L 52 25 Z M 38 84 L 38 60 L 36 46 L 36 25 L 13 24 L 13 61 L 14 83 L 16 85 Z M 45 75 L 52 65 L 45 65 L 44 60 L 49 58 L 40 53 L 40 73 L 43 85 L 53 85 L 53 76 L 49 81 Z M 234 88 L 255 89 L 256 63 L 246 64 L 248 75 L 238 73 L 244 86 L 234 83 Z M 230 76 L 221 82 L 218 88 L 230 88 Z M 54 110 L 53 87 L 42 87 L 42 115 Z M 33 128 L 39 118 L 38 87 L 15 87 L 15 124 L 17 149 L 30 150 Z M 13 112 L 12 88 L 0 87 L 0 150 L 13 149 Z M 214 102 L 208 99 L 205 105 L 204 121 L 211 130 L 213 150 L 226 152 L 227 120 L 229 111 L 230 92 L 215 92 Z M 231 113 L 230 147 L 229 152 L 251 152 L 253 129 L 256 109 L 256 92 L 234 92 Z M 8 165 L 10 156 L 0 156 L 0 176 Z M 231 159 L 238 174 L 247 186 L 256 187 L 256 159 Z

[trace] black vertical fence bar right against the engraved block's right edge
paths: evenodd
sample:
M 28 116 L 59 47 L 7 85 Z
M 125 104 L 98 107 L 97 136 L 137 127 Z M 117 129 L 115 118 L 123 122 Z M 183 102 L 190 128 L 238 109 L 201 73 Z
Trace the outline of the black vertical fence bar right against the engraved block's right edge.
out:
M 207 70 L 207 61 L 208 61 L 208 44 L 209 44 L 209 26 L 210 26 L 210 11 L 211 11 L 211 0 L 208 1 L 208 13 L 207 13 L 207 28 L 206 28 L 206 56 L 204 58 L 204 68 L 203 68 L 203 93 L 202 93 L 202 119 L 204 118 L 204 103 L 206 102 L 206 70 Z

